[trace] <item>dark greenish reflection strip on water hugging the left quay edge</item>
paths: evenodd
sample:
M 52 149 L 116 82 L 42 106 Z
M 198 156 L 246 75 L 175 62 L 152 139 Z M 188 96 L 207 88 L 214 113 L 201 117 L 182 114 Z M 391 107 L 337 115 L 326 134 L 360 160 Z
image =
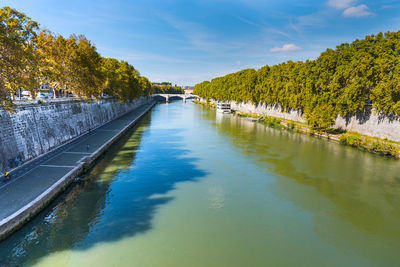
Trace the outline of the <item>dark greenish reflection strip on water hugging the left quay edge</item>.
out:
M 133 134 L 126 134 L 110 148 L 85 179 L 68 188 L 48 209 L 0 244 L 0 266 L 19 265 L 69 249 L 85 239 L 101 216 L 112 178 L 119 170 L 129 168 L 148 124 L 146 117 Z M 103 179 L 98 179 L 99 174 Z

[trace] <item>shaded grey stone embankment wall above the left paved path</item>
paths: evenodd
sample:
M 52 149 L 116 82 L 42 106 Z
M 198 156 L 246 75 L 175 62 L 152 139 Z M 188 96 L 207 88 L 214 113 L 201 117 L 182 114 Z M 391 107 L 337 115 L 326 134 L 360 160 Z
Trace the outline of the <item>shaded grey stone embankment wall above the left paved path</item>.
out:
M 19 104 L 15 113 L 0 109 L 0 171 L 42 155 L 149 101 L 144 97 L 124 104 L 111 98 L 91 103 L 55 100 Z

